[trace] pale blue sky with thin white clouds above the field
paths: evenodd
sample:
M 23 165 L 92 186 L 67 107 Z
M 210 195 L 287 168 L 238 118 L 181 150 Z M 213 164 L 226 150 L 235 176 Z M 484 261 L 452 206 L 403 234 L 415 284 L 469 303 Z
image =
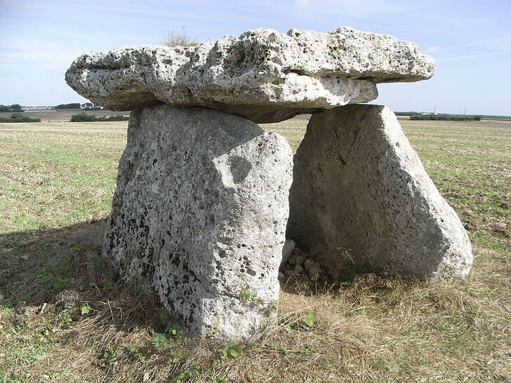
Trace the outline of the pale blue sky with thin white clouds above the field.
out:
M 0 104 L 84 102 L 64 81 L 80 53 L 161 43 L 183 26 L 206 41 L 258 27 L 345 25 L 414 41 L 437 60 L 432 79 L 380 84 L 373 103 L 511 115 L 511 0 L 0 0 Z

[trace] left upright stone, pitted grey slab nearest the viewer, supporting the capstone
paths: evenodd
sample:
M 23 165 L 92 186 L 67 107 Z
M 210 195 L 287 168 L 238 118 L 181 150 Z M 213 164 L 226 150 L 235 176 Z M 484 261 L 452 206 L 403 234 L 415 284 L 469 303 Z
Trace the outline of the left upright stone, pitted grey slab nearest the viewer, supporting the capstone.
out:
M 277 133 L 201 107 L 132 112 L 103 254 L 150 278 L 194 335 L 242 339 L 270 316 L 292 152 Z

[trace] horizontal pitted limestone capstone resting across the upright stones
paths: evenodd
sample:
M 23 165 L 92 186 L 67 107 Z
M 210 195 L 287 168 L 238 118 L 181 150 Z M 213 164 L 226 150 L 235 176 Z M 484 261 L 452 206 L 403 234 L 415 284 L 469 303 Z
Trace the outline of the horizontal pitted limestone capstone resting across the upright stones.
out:
M 112 110 L 163 101 L 277 122 L 374 100 L 376 83 L 419 81 L 434 61 L 416 44 L 349 27 L 328 33 L 260 28 L 196 47 L 136 46 L 84 53 L 66 81 Z

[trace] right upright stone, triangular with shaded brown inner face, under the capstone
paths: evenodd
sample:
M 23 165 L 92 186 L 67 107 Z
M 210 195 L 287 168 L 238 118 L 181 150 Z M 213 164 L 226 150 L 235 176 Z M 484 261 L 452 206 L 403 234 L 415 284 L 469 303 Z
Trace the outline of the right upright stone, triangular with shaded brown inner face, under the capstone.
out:
M 465 277 L 472 249 L 390 109 L 312 115 L 294 159 L 288 238 L 338 270 L 349 250 L 369 270 Z

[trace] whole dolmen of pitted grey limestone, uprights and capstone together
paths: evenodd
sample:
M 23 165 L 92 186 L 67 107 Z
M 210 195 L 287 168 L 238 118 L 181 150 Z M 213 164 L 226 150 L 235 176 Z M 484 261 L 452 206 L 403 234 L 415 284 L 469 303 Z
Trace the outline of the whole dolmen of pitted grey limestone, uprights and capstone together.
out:
M 69 86 L 132 111 L 103 256 L 192 335 L 230 340 L 273 315 L 286 237 L 332 276 L 348 253 L 364 271 L 465 278 L 458 215 L 392 111 L 360 105 L 433 74 L 416 44 L 349 27 L 84 53 Z M 312 117 L 293 156 L 257 123 L 297 114 Z

